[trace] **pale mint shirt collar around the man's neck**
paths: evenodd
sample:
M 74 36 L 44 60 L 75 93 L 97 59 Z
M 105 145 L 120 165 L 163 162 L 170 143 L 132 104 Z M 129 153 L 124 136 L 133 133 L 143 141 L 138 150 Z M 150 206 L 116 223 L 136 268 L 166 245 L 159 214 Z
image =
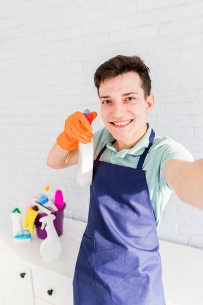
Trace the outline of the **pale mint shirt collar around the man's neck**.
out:
M 112 141 L 114 141 L 114 137 L 112 136 L 112 134 L 108 131 L 108 133 L 103 137 L 102 141 L 107 144 L 107 148 L 111 149 L 112 151 L 116 152 L 116 154 L 118 154 L 118 157 L 124 157 L 126 155 L 126 153 L 130 153 L 133 155 L 141 155 L 145 149 L 148 147 L 149 145 L 149 136 L 151 134 L 151 124 L 147 123 L 148 126 L 148 130 L 147 132 L 144 134 L 144 136 L 139 140 L 139 142 L 137 144 L 135 144 L 132 148 L 130 149 L 123 149 L 120 152 L 117 152 L 114 144 L 111 144 Z

